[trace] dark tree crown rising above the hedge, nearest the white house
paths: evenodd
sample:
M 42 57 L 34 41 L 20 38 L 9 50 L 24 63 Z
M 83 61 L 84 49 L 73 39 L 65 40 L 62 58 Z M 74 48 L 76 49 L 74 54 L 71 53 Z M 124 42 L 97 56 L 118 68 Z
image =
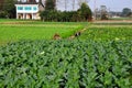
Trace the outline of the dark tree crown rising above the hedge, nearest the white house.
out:
M 46 0 L 45 10 L 55 10 L 56 9 L 56 0 Z

